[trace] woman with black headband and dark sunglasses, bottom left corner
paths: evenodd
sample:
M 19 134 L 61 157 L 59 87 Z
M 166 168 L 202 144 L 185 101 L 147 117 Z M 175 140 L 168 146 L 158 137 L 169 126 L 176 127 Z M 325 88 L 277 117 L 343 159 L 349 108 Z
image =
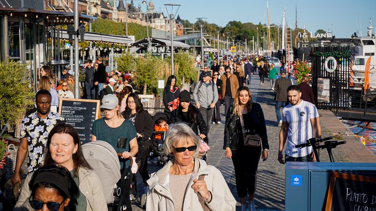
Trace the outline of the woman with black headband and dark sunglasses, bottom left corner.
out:
M 30 180 L 31 196 L 25 207 L 36 211 L 75 211 L 79 189 L 64 167 L 47 166 L 36 170 Z

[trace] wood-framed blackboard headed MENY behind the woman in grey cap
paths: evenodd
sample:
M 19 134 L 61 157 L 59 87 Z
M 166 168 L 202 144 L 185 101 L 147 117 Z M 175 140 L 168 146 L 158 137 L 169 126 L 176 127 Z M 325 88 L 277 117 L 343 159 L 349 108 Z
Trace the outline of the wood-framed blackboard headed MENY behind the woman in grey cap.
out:
M 92 126 L 100 118 L 100 101 L 86 99 L 61 98 L 59 114 L 65 122 L 76 128 L 81 144 L 92 141 Z

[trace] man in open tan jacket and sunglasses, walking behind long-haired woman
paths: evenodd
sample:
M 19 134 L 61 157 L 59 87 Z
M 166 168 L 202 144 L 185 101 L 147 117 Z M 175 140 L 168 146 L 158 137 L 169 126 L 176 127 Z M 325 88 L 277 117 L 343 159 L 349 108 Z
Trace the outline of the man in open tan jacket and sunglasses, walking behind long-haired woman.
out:
M 230 60 L 231 61 L 231 60 Z M 234 104 L 234 98 L 236 90 L 239 88 L 239 82 L 237 77 L 231 73 L 230 66 L 226 66 L 225 75 L 221 77 L 222 81 L 222 96 L 225 101 L 225 115 L 230 108 L 230 105 Z

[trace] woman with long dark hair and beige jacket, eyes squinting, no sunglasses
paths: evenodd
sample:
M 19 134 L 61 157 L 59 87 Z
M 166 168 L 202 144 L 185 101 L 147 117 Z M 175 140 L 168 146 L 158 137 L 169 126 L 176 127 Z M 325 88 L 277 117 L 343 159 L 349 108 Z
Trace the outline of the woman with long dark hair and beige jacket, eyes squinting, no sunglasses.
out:
M 55 125 L 48 134 L 46 146 L 44 167 L 56 165 L 68 169 L 76 186 L 79 187 L 79 195 L 74 197 L 77 200 L 76 210 L 107 211 L 102 183 L 82 154 L 77 130 L 65 123 Z M 35 160 L 38 161 L 39 158 Z M 27 175 L 16 208 L 24 208 L 24 202 L 31 195 L 30 188 L 33 187 L 29 181 L 32 176 L 33 173 Z

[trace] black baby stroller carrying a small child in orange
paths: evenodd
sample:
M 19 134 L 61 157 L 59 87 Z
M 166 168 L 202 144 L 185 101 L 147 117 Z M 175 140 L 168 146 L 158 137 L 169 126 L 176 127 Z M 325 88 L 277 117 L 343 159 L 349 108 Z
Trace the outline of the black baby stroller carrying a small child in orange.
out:
M 156 122 L 160 117 L 163 117 L 167 122 L 170 118 L 169 111 L 165 108 L 154 108 L 157 110 L 161 110 L 152 116 L 153 122 Z M 162 110 L 166 110 L 167 112 L 163 112 Z M 150 138 L 150 153 L 149 158 L 154 159 L 157 157 L 157 166 L 164 166 L 166 162 L 168 161 L 168 156 L 166 153 L 164 153 L 164 148 L 159 147 L 160 144 L 164 145 L 164 137 L 165 137 L 166 131 L 153 131 L 153 135 Z M 156 140 L 155 135 L 160 135 L 161 140 Z

